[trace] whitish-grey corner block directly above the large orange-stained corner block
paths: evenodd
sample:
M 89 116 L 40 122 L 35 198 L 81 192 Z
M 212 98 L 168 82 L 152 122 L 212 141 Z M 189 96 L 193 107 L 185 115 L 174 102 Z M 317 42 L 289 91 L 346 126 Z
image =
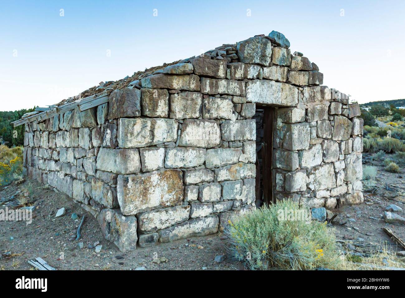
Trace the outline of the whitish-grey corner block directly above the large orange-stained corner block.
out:
M 138 149 L 100 148 L 96 167 L 101 171 L 122 175 L 139 173 L 141 161 Z

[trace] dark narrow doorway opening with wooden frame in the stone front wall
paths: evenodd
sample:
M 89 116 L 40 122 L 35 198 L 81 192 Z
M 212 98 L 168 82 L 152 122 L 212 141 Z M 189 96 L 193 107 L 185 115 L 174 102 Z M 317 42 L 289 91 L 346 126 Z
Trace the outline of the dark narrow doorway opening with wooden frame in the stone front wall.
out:
M 273 118 L 274 108 L 257 106 L 256 120 L 256 207 L 268 206 L 273 199 Z

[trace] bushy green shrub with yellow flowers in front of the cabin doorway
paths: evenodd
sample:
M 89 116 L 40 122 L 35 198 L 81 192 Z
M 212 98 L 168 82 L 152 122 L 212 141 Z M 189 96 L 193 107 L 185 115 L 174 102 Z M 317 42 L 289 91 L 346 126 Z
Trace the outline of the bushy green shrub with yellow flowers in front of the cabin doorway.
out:
M 333 229 L 318 221 L 284 220 L 284 212 L 310 211 L 283 200 L 228 221 L 230 255 L 252 270 L 337 268 L 341 260 Z

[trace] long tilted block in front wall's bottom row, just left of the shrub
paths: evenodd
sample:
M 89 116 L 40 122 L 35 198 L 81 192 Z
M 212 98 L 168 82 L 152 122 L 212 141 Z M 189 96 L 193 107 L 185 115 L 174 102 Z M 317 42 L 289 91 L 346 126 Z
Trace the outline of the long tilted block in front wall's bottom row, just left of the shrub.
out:
M 159 242 L 172 242 L 196 236 L 207 236 L 218 232 L 219 220 L 216 215 L 185 221 L 159 231 Z

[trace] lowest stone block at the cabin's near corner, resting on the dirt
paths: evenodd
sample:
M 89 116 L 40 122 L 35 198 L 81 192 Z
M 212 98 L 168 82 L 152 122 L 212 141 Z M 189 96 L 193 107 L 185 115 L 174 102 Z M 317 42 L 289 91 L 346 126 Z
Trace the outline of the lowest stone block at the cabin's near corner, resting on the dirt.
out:
M 136 249 L 136 242 L 138 241 L 136 217 L 124 216 L 114 209 L 103 209 L 98 216 L 98 222 L 104 237 L 113 242 L 120 251 Z

